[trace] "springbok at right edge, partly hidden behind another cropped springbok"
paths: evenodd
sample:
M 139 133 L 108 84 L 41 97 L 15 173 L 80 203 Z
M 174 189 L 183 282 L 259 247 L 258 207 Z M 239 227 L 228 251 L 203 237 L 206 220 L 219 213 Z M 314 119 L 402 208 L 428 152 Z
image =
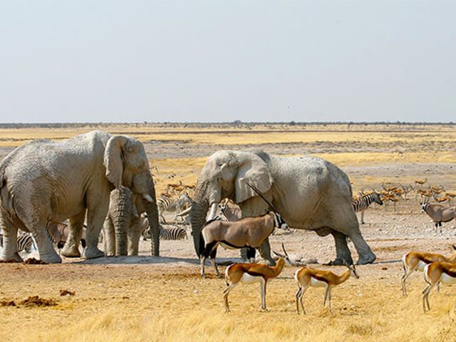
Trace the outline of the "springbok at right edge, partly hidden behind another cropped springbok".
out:
M 452 244 L 453 249 L 456 249 L 456 246 Z M 437 253 L 427 253 L 427 252 L 408 252 L 402 257 L 402 265 L 404 268 L 404 274 L 400 279 L 402 284 L 402 294 L 407 296 L 407 291 L 405 289 L 405 279 L 413 273 L 413 271 L 422 272 L 425 269 L 427 264 L 436 261 L 445 261 L 445 262 L 456 262 L 456 251 L 453 252 L 450 257 L 445 257 L 442 254 Z

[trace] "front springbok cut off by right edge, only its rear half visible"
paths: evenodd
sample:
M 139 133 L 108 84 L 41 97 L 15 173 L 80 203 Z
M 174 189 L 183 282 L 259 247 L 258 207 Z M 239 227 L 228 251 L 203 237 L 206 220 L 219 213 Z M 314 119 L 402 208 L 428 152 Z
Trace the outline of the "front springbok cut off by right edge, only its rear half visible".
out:
M 435 284 L 456 284 L 456 264 L 451 262 L 432 262 L 425 266 L 426 288 L 423 290 L 423 311 L 430 310 L 429 294 Z

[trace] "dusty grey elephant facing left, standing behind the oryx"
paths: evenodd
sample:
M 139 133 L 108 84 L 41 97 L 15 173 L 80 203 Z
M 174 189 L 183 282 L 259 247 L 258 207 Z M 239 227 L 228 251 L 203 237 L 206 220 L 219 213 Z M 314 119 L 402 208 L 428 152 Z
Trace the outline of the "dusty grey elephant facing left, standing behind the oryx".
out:
M 247 182 L 264 193 L 290 227 L 314 230 L 320 236 L 332 234 L 336 242 L 336 259 L 332 264 L 353 262 L 346 237 L 355 244 L 358 264 L 375 260 L 361 235 L 345 172 L 318 157 L 276 157 L 262 150 L 221 150 L 207 160 L 190 212 L 198 256 L 202 252 L 200 232 L 209 207 L 208 219 L 214 217 L 217 204 L 224 198 L 237 203 L 244 217 L 259 216 L 268 209 Z M 259 252 L 270 264 L 274 263 L 269 241 Z

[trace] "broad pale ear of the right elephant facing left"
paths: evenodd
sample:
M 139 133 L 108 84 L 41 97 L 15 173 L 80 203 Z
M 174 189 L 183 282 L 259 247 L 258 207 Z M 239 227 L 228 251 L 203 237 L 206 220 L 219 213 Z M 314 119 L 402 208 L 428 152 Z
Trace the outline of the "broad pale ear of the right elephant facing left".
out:
M 236 189 L 236 203 L 244 202 L 250 197 L 257 196 L 247 182 L 257 187 L 261 192 L 269 191 L 272 185 L 271 174 L 266 162 L 253 153 L 246 153 L 247 157 L 242 158 L 234 182 Z

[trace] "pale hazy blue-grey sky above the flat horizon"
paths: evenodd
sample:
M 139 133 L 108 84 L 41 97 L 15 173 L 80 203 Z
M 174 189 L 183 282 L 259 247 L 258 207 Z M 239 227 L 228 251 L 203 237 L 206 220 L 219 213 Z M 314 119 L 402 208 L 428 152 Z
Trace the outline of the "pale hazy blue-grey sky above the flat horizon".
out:
M 0 0 L 0 122 L 455 121 L 456 1 Z

